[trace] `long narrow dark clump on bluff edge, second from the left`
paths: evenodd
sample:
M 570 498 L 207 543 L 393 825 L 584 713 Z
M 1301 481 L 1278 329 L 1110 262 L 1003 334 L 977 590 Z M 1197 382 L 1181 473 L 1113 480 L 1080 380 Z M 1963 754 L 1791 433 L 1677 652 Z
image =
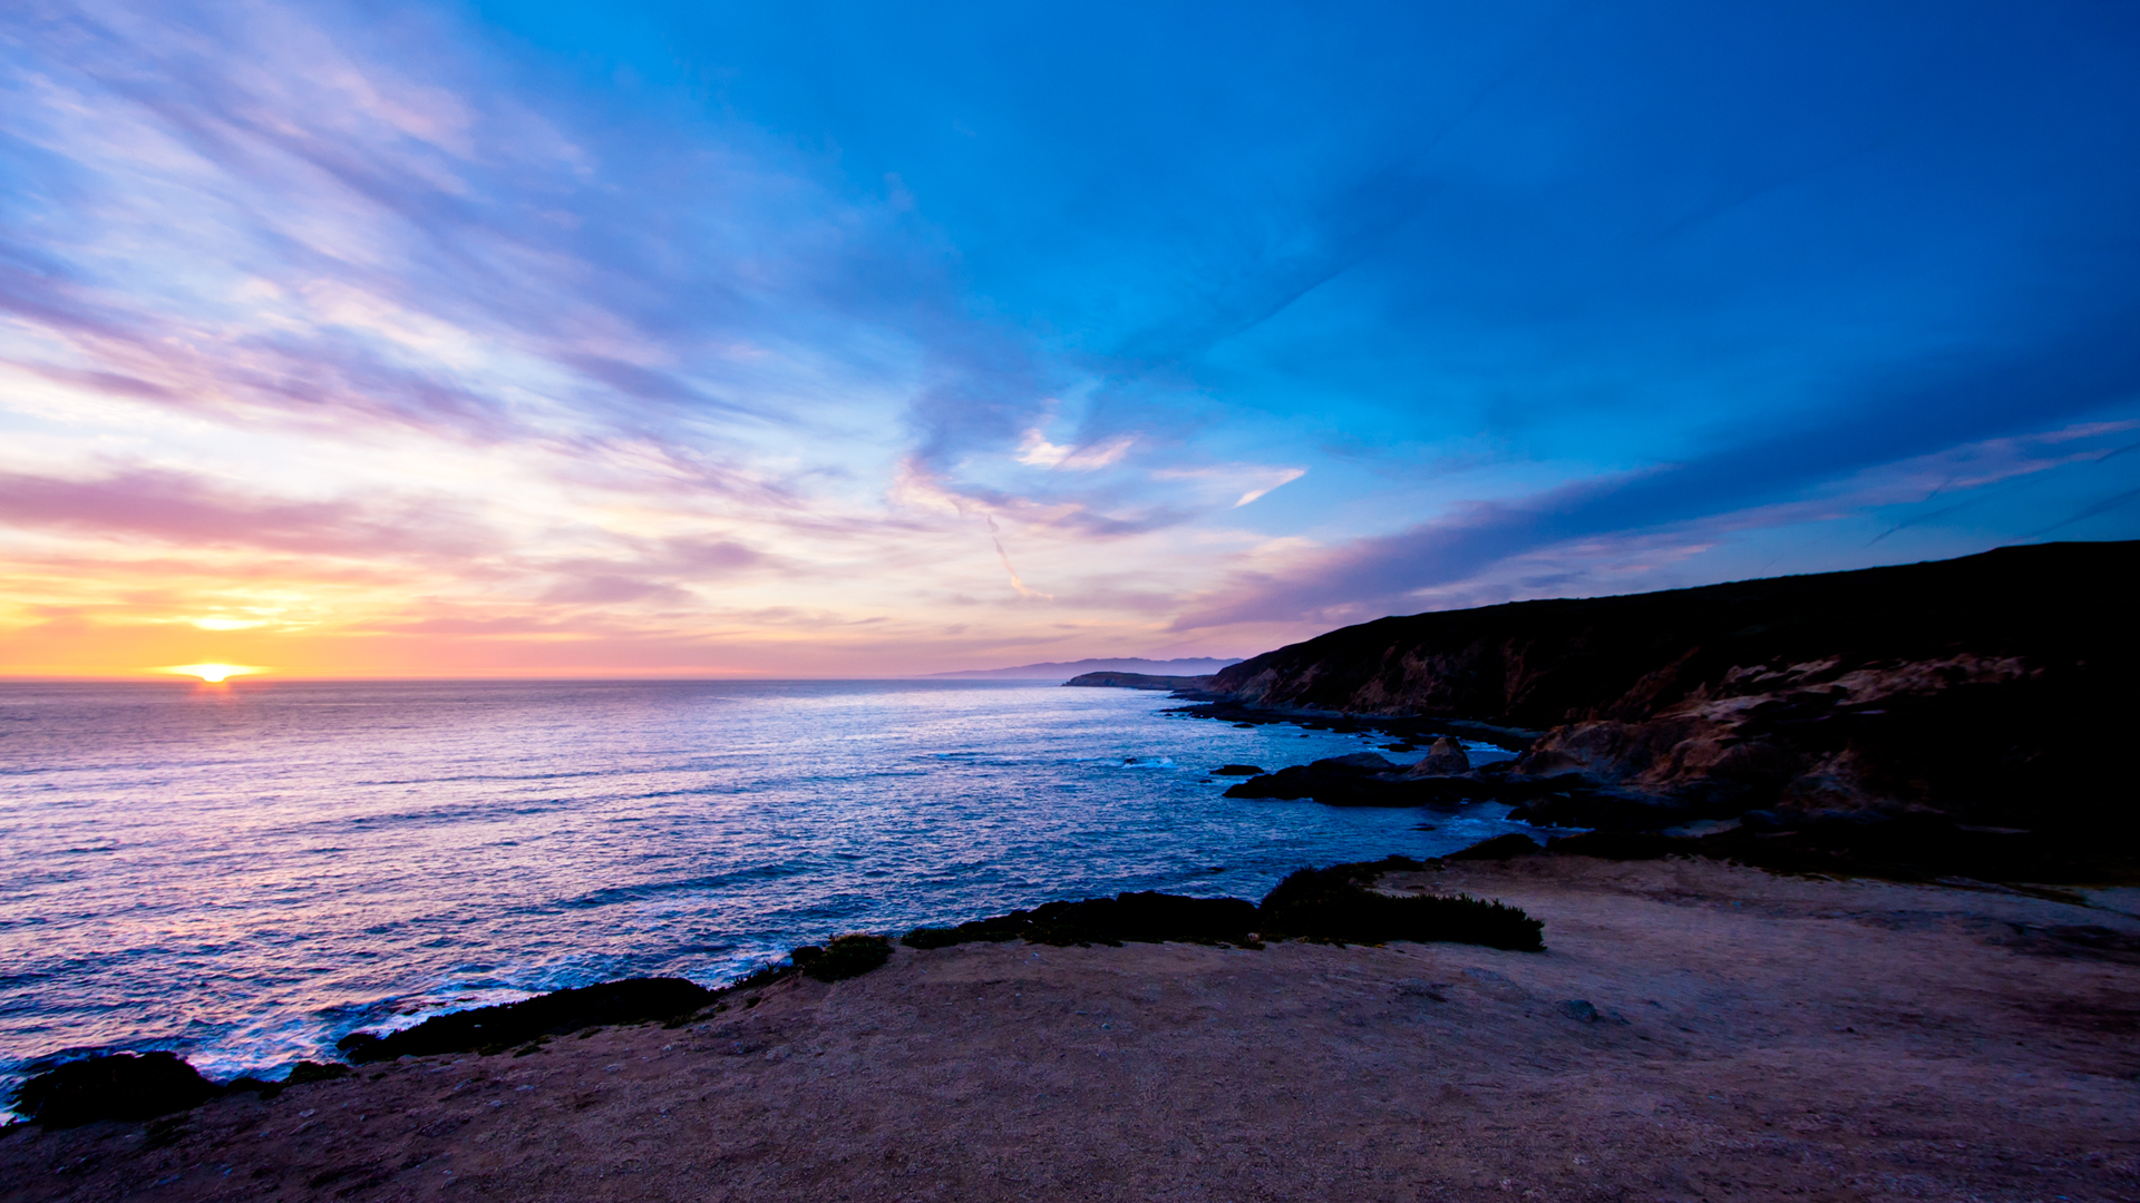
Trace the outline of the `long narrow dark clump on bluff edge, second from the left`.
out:
M 336 1049 L 349 1053 L 349 1060 L 357 1064 L 437 1053 L 503 1051 L 582 1027 L 674 1019 L 706 1006 L 713 1002 L 713 993 L 683 978 L 625 978 L 541 993 L 524 1002 L 456 1010 L 387 1036 L 353 1032 L 342 1036 Z

